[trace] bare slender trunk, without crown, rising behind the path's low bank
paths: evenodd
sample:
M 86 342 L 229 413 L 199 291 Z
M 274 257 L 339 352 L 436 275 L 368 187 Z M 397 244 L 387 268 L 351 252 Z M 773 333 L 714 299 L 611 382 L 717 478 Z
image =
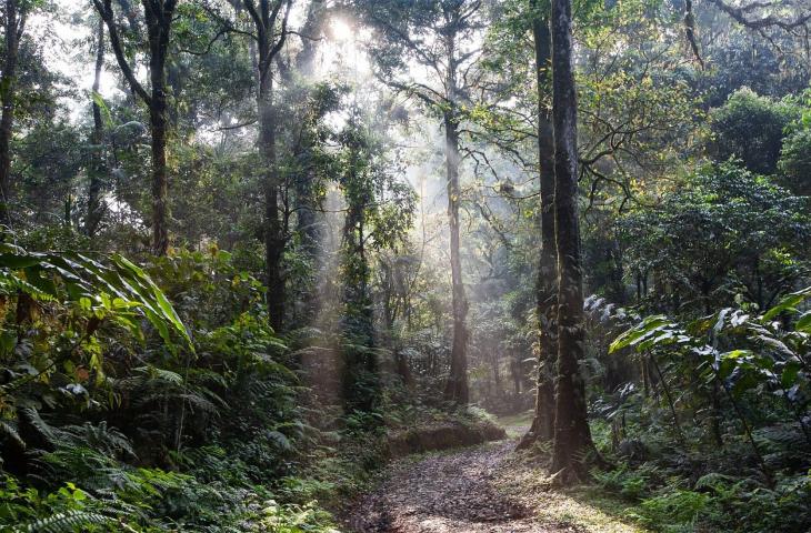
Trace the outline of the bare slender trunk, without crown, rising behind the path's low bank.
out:
M 470 400 L 468 390 L 468 300 L 462 280 L 462 261 L 459 243 L 459 124 L 452 111 L 445 112 L 445 165 L 448 172 L 448 221 L 451 244 L 451 285 L 453 296 L 453 345 L 451 348 L 451 369 L 445 384 L 445 399 L 458 404 Z

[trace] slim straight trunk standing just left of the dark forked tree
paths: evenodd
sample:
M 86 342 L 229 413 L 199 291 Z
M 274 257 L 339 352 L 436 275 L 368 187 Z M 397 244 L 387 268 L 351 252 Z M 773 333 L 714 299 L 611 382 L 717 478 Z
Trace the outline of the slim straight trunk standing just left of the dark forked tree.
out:
M 88 187 L 88 214 L 84 220 L 84 233 L 93 237 L 99 229 L 99 223 L 104 214 L 104 207 L 101 203 L 102 177 L 104 174 L 104 158 L 101 149 L 104 124 L 101 120 L 101 108 L 96 101 L 101 86 L 101 69 L 104 66 L 104 21 L 99 19 L 97 34 L 96 70 L 93 74 L 93 132 L 90 135 L 90 143 L 93 145 L 93 155 L 90 163 L 90 184 Z

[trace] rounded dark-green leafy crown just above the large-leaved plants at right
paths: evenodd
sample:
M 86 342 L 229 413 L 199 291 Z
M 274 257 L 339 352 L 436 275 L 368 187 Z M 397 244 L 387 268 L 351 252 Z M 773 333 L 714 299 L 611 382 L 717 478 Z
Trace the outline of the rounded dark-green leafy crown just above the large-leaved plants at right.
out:
M 672 312 L 707 313 L 735 294 L 764 308 L 807 270 L 807 204 L 734 163 L 709 165 L 621 220 L 625 262 L 655 279 L 649 298 Z

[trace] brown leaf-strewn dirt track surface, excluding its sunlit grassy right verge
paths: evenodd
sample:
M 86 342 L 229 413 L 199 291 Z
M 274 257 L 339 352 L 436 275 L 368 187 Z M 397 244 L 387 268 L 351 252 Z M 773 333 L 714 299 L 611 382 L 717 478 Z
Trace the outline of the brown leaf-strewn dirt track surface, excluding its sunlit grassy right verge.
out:
M 398 533 L 564 532 L 497 490 L 513 441 L 401 461 L 348 519 L 351 531 Z

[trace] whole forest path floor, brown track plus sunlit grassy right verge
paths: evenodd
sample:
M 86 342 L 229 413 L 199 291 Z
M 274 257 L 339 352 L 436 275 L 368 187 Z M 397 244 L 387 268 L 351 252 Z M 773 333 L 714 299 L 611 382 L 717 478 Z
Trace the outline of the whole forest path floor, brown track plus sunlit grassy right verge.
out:
M 554 491 L 540 462 L 513 453 L 524 418 L 501 442 L 406 457 L 344 515 L 349 531 L 401 533 L 640 532 L 597 491 Z

